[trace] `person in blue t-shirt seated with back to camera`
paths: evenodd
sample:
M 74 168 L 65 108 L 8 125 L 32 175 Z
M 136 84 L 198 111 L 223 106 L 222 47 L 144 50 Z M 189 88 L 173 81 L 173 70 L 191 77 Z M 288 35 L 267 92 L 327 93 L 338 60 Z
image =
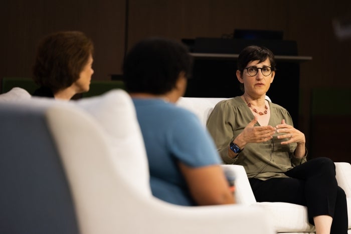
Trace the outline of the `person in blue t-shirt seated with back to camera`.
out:
M 126 90 L 145 142 L 152 194 L 179 205 L 234 203 L 211 136 L 190 111 L 174 105 L 191 74 L 188 49 L 175 41 L 137 43 L 123 64 Z

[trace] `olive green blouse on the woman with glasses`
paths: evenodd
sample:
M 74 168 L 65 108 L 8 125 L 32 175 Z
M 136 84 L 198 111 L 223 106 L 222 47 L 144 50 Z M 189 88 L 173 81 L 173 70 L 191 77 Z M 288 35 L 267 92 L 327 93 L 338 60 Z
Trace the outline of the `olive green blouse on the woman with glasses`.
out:
M 285 123 L 293 125 L 289 112 L 274 103 L 268 102 L 271 116 L 268 125 L 276 126 Z M 219 102 L 207 120 L 207 128 L 211 133 L 222 160 L 226 164 L 244 166 L 249 178 L 268 179 L 271 177 L 287 177 L 284 172 L 306 162 L 306 155 L 301 158 L 294 156 L 296 143 L 281 145 L 276 133 L 273 139 L 262 143 L 247 143 L 237 157 L 228 156 L 228 146 L 254 118 L 250 108 L 241 99 L 235 97 Z M 260 126 L 256 123 L 255 126 Z M 281 133 L 283 134 L 283 133 Z

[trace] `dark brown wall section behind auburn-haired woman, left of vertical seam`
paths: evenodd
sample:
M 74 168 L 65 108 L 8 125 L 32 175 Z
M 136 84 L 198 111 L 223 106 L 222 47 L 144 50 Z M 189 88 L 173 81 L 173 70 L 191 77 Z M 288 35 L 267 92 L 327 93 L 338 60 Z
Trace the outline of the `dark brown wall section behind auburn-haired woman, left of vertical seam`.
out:
M 0 8 L 0 79 L 31 77 L 36 46 L 44 35 L 79 30 L 94 41 L 93 79 L 120 72 L 124 55 L 125 1 L 5 0 Z

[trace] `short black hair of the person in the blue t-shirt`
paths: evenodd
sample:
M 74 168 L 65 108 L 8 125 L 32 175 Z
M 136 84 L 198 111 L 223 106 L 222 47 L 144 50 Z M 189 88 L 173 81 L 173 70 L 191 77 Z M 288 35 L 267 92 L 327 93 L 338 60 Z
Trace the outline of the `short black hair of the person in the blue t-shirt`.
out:
M 180 42 L 147 38 L 138 42 L 123 62 L 125 88 L 131 93 L 165 94 L 175 87 L 181 72 L 189 78 L 192 57 Z

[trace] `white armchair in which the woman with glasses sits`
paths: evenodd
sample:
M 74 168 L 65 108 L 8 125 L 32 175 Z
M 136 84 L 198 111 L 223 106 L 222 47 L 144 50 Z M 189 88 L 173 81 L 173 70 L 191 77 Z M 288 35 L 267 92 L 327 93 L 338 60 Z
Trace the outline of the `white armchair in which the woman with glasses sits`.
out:
M 206 121 L 214 106 L 227 98 L 189 98 L 181 97 L 178 106 L 194 112 L 206 127 Z M 268 97 L 266 99 L 270 100 Z M 278 232 L 307 234 L 315 233 L 313 225 L 308 223 L 307 208 L 305 206 L 284 202 L 256 202 L 244 167 L 238 165 L 222 165 L 236 173 L 236 200 L 240 204 L 259 206 L 264 208 Z M 347 197 L 348 233 L 351 234 L 351 165 L 336 162 L 336 179 Z

